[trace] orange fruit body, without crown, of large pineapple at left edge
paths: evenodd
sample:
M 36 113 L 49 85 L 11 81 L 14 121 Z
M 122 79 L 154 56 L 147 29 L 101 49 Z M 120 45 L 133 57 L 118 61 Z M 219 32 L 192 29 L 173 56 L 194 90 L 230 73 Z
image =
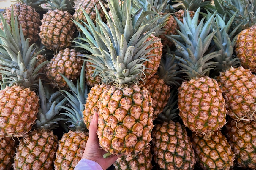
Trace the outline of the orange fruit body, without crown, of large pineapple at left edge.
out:
M 0 91 L 0 135 L 23 137 L 37 119 L 39 97 L 29 88 L 7 86 Z

